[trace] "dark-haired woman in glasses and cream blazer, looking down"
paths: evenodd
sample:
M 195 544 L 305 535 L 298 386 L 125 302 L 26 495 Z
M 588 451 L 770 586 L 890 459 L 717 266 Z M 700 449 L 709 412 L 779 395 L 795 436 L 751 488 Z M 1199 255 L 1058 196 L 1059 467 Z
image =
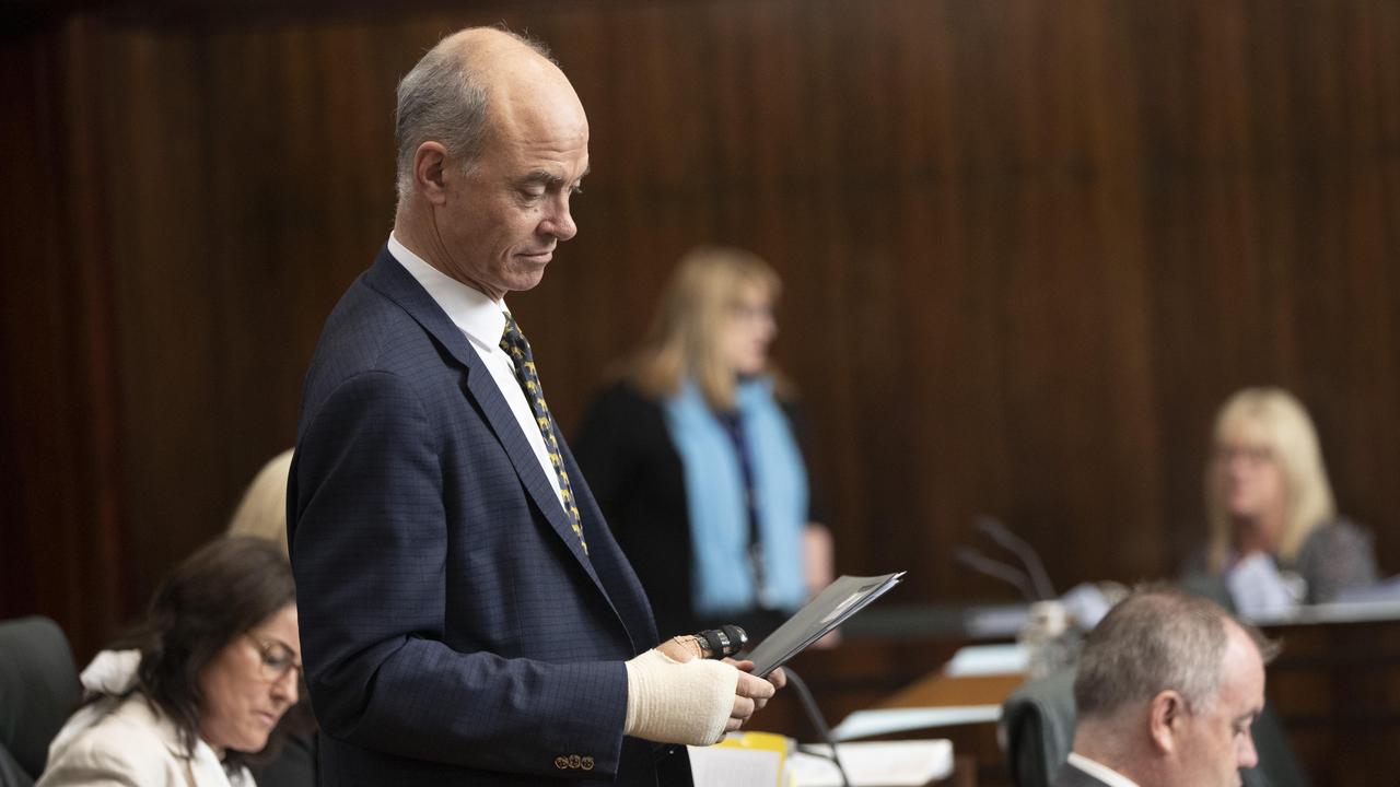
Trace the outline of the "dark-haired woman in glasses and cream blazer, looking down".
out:
M 301 644 L 281 549 L 221 538 L 181 563 L 146 619 L 83 671 L 85 704 L 49 748 L 42 787 L 251 786 L 297 703 Z

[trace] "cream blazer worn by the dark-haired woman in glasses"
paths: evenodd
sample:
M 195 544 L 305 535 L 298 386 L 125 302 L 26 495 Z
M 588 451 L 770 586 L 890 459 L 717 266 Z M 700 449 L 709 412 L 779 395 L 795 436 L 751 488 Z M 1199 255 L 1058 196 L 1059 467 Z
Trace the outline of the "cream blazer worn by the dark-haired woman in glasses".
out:
M 232 776 L 209 744 L 185 756 L 179 730 L 151 710 L 144 695 L 80 709 L 49 746 L 49 765 L 35 787 L 253 787 L 248 769 Z

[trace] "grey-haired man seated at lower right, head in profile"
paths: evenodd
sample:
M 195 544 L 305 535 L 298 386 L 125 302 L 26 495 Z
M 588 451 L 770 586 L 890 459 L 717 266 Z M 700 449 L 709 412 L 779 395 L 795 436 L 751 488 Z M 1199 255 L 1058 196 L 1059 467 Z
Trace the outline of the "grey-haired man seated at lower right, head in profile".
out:
M 1250 724 L 1274 650 L 1210 601 L 1134 594 L 1085 641 L 1074 751 L 1056 787 L 1238 787 L 1259 762 Z

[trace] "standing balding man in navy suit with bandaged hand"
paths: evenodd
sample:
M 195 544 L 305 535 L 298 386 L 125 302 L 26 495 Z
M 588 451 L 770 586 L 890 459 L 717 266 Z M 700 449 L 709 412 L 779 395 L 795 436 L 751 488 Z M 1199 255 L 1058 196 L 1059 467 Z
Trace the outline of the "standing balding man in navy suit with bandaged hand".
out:
M 393 231 L 326 321 L 288 483 L 322 784 L 685 783 L 664 744 L 784 679 L 655 647 L 505 307 L 577 232 L 578 95 L 538 45 L 465 29 L 400 83 L 398 143 Z

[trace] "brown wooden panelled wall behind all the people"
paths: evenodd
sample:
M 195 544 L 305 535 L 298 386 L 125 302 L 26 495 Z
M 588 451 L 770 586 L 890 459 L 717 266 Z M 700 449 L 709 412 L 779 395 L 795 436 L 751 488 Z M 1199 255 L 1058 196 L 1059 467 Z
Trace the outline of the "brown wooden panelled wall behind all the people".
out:
M 581 232 L 511 298 L 566 427 L 676 256 L 736 244 L 785 280 L 839 569 L 907 569 L 892 602 L 1008 595 L 949 559 L 979 513 L 1061 587 L 1175 571 L 1249 384 L 1400 571 L 1393 0 L 143 6 L 29 4 L 0 55 L 0 616 L 80 654 L 291 444 L 396 78 L 500 20 L 592 126 Z

